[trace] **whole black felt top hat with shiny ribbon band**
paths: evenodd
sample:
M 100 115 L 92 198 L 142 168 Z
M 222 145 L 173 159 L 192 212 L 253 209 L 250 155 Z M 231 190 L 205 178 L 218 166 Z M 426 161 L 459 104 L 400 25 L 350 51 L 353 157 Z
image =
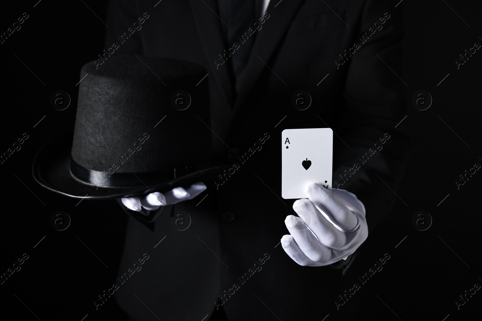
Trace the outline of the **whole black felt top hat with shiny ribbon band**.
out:
M 207 74 L 199 64 L 123 56 L 80 71 L 73 134 L 34 159 L 43 187 L 75 198 L 141 195 L 210 179 Z

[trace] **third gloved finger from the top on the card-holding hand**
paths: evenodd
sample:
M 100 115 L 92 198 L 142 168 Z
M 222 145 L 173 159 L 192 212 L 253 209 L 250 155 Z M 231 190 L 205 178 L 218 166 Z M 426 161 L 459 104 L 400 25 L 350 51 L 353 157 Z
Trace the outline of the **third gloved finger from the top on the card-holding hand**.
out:
M 330 248 L 317 240 L 301 218 L 288 215 L 284 223 L 299 249 L 311 261 L 327 262 L 333 259 Z

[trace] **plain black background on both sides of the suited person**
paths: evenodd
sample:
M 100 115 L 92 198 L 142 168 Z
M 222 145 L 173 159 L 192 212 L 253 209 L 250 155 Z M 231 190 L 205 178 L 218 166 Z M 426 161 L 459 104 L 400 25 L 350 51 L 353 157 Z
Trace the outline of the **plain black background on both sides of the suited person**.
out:
M 31 174 L 40 147 L 74 126 L 80 68 L 105 49 L 106 26 L 101 20 L 105 21 L 107 1 L 36 2 L 0 5 L 1 33 L 23 13 L 29 14 L 21 29 L 0 44 L 0 153 L 23 133 L 29 135 L 21 150 L 0 165 L 0 273 L 24 253 L 29 256 L 21 270 L 0 285 L 1 313 L 20 320 L 80 321 L 86 315 L 86 321 L 123 320 L 113 297 L 97 310 L 93 300 L 116 277 L 127 215 L 114 201 L 79 203 L 48 192 Z M 390 2 L 395 7 L 399 1 Z M 482 174 L 477 171 L 459 189 L 455 180 L 476 162 L 482 164 L 482 53 L 478 50 L 459 69 L 455 59 L 475 42 L 482 44 L 480 9 L 473 1 L 453 0 L 404 0 L 393 8 L 404 14 L 404 72 L 398 76 L 409 105 L 403 124 L 412 137 L 413 151 L 402 186 L 395 191 L 399 197 L 395 208 L 369 236 L 363 255 L 346 275 L 348 283 L 358 282 L 357 276 L 368 272 L 385 253 L 390 255 L 383 270 L 357 291 L 361 315 L 384 320 L 420 314 L 443 320 L 449 315 L 446 320 L 458 320 L 478 312 L 480 291 L 458 310 L 455 300 L 475 283 L 482 284 Z M 162 10 L 162 2 L 154 10 Z M 69 93 L 72 103 L 66 110 L 50 104 L 55 90 Z M 426 90 L 433 98 L 427 110 L 411 104 L 417 90 Z M 50 225 L 57 210 L 72 219 L 65 231 Z M 426 231 L 412 225 L 419 210 L 433 219 Z M 333 308 L 326 320 L 336 318 L 333 302 L 324 304 Z M 340 307 L 344 308 L 353 308 L 349 300 Z

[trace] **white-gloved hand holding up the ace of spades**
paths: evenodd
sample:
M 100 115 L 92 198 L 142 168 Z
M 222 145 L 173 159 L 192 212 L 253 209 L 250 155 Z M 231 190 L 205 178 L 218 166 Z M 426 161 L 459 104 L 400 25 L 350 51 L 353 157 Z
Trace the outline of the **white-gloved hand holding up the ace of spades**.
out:
M 330 193 L 317 183 L 305 193 L 308 199 L 293 204 L 301 218 L 288 215 L 284 221 L 291 233 L 281 238 L 286 254 L 302 266 L 325 266 L 353 254 L 368 236 L 363 203 L 353 193 Z

